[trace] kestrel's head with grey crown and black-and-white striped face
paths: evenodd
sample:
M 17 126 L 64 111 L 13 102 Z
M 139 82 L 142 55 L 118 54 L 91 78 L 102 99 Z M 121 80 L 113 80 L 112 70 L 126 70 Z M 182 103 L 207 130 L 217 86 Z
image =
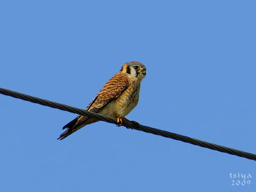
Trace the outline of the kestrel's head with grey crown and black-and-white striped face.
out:
M 146 76 L 146 70 L 147 68 L 142 63 L 138 61 L 131 61 L 124 63 L 120 71 L 128 74 L 129 76 L 143 79 Z

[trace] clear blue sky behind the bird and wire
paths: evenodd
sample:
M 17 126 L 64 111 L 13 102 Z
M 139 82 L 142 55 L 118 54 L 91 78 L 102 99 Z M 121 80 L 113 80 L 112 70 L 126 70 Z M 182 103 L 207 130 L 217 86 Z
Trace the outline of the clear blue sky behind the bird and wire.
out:
M 255 154 L 255 6 L 1 1 L 1 87 L 86 108 L 140 61 L 147 76 L 127 118 Z M 252 160 L 106 122 L 58 141 L 76 115 L 4 95 L 0 106 L 0 191 L 256 189 Z M 251 184 L 232 186 L 230 173 Z

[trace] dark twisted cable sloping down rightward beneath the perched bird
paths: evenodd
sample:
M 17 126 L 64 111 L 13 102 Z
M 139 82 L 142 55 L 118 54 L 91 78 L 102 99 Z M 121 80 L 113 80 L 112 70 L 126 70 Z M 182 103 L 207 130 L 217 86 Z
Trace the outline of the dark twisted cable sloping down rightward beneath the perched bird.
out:
M 56 109 L 60 109 L 60 110 L 63 110 L 63 111 L 76 113 L 78 115 L 90 116 L 90 117 L 102 120 L 104 122 L 109 122 L 111 124 L 116 124 L 116 118 L 112 118 L 112 117 L 105 116 L 105 115 L 100 115 L 98 113 L 93 113 L 93 112 L 90 112 L 90 111 L 85 111 L 85 110 L 79 109 L 79 108 L 74 108 L 74 107 L 71 107 L 71 106 L 67 106 L 65 104 L 60 104 L 58 102 L 52 102 L 50 100 L 40 99 L 38 97 L 33 97 L 33 96 L 26 95 L 26 94 L 19 93 L 19 92 L 13 92 L 11 90 L 7 90 L 7 89 L 4 89 L 4 88 L 0 88 L 0 93 L 3 94 L 3 95 L 8 95 L 8 96 L 11 96 L 11 97 L 15 97 L 17 99 L 28 100 L 29 102 L 34 102 L 34 103 L 37 103 L 37 104 L 41 104 L 43 106 L 48 106 L 48 107 L 51 107 L 51 108 L 56 108 Z M 194 138 L 189 138 L 188 136 L 182 136 L 180 134 L 175 134 L 173 132 L 163 131 L 163 130 L 155 129 L 155 128 L 152 128 L 152 127 L 147 127 L 145 125 L 140 125 L 136 122 L 134 123 L 134 122 L 129 121 L 129 120 L 125 121 L 123 125 L 127 128 L 136 129 L 138 131 L 157 134 L 159 136 L 163 136 L 163 137 L 166 137 L 166 138 L 172 138 L 173 140 L 179 140 L 179 141 L 183 141 L 183 142 L 186 142 L 186 143 L 191 143 L 193 145 L 198 145 L 200 147 L 210 148 L 212 150 L 218 150 L 220 152 L 224 152 L 224 153 L 231 154 L 231 155 L 234 155 L 234 156 L 244 157 L 246 159 L 252 159 L 252 160 L 256 161 L 256 155 L 255 154 L 251 154 L 251 153 L 248 153 L 248 152 L 243 152 L 241 150 L 236 150 L 234 148 L 224 147 L 224 146 L 221 146 L 221 145 L 216 145 L 214 143 L 208 143 L 206 141 L 196 140 Z

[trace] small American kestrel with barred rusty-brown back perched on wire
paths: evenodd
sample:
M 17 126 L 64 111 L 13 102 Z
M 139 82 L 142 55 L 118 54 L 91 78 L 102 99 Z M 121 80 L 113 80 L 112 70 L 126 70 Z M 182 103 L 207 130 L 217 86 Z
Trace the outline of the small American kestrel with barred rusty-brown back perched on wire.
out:
M 145 76 L 146 67 L 142 63 L 138 61 L 125 63 L 121 70 L 104 84 L 95 99 L 86 108 L 86 111 L 115 117 L 117 118 L 117 124 L 122 125 L 125 120 L 124 116 L 130 113 L 138 104 L 140 83 Z M 60 135 L 58 140 L 67 138 L 84 125 L 98 121 L 88 116 L 77 116 L 63 127 L 67 130 Z

